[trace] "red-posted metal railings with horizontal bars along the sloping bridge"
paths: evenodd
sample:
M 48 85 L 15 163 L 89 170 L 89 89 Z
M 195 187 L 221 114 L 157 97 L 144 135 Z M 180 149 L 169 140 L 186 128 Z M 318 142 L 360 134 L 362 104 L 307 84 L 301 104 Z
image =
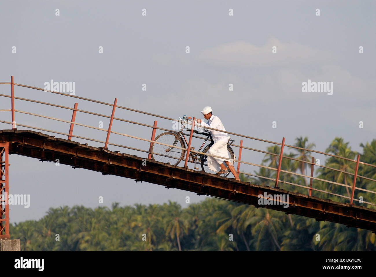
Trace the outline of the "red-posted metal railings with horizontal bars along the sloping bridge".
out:
M 204 154 L 204 155 L 212 156 L 212 157 L 219 157 L 219 158 L 226 158 L 226 159 L 228 159 L 228 157 L 220 157 L 220 156 L 217 156 L 217 155 L 212 155 L 212 154 L 208 154 L 208 153 L 198 152 L 198 151 L 194 151 L 193 149 L 190 149 L 190 144 L 191 144 L 192 138 L 205 139 L 203 137 L 200 137 L 200 136 L 197 136 L 197 135 L 193 134 L 194 124 L 195 124 L 194 121 L 193 121 L 193 123 L 188 122 L 188 125 L 190 125 L 190 124 L 192 125 L 191 126 L 191 132 L 190 132 L 190 134 L 184 133 L 185 135 L 189 135 L 189 137 L 190 137 L 187 148 L 180 148 L 178 146 L 168 145 L 168 144 L 165 144 L 165 143 L 161 143 L 161 142 L 156 142 L 155 141 L 155 131 L 156 131 L 156 129 L 159 129 L 159 130 L 162 130 L 162 131 L 176 132 L 176 131 L 171 130 L 171 129 L 161 128 L 161 127 L 157 126 L 158 122 L 156 120 L 154 121 L 153 125 L 148 125 L 148 124 L 145 124 L 145 123 L 140 123 L 140 122 L 135 122 L 135 121 L 132 121 L 132 120 L 118 118 L 118 117 L 115 117 L 114 115 L 115 115 L 116 108 L 120 108 L 120 109 L 124 109 L 124 110 L 133 111 L 133 112 L 136 112 L 136 113 L 147 114 L 147 115 L 150 115 L 150 116 L 155 116 L 155 117 L 159 117 L 159 118 L 162 118 L 162 119 L 172 120 L 174 122 L 179 122 L 179 120 L 177 120 L 177 119 L 173 119 L 173 118 L 170 118 L 170 117 L 167 117 L 167 116 L 161 116 L 161 115 L 157 115 L 157 114 L 153 114 L 153 113 L 148 113 L 146 111 L 140 111 L 140 110 L 135 110 L 135 109 L 132 109 L 132 108 L 122 107 L 120 105 L 117 105 L 117 98 L 115 98 L 114 104 L 110 104 L 110 103 L 106 103 L 106 102 L 102 102 L 102 101 L 97 101 L 97 100 L 93 100 L 93 99 L 89 99 L 89 98 L 83 98 L 83 97 L 76 96 L 76 95 L 70 95 L 70 94 L 67 94 L 67 93 L 56 92 L 56 91 L 53 91 L 53 90 L 45 90 L 45 89 L 42 89 L 42 88 L 39 88 L 39 87 L 27 86 L 27 85 L 24 85 L 24 84 L 17 84 L 17 83 L 14 83 L 13 76 L 11 76 L 11 82 L 9 82 L 9 83 L 8 82 L 4 82 L 4 83 L 0 83 L 0 84 L 9 84 L 9 85 L 11 85 L 11 95 L 0 94 L 1 97 L 11 98 L 11 108 L 10 109 L 0 110 L 0 111 L 11 111 L 11 122 L 4 121 L 4 120 L 0 120 L 0 122 L 11 124 L 12 125 L 12 129 L 17 129 L 17 126 L 23 126 L 23 127 L 26 127 L 26 128 L 37 129 L 37 130 L 40 130 L 40 131 L 52 132 L 52 133 L 61 134 L 61 135 L 67 135 L 69 140 L 72 137 L 76 137 L 76 138 L 80 138 L 80 139 L 84 139 L 84 140 L 89 140 L 89 141 L 93 141 L 93 142 L 103 143 L 105 145 L 104 146 L 105 149 L 108 149 L 108 147 L 107 147 L 108 145 L 113 145 L 113 146 L 117 146 L 117 147 L 121 147 L 121 148 L 126 148 L 126 149 L 131 149 L 131 150 L 135 150 L 135 151 L 139 151 L 139 152 L 148 153 L 148 158 L 149 159 L 151 158 L 151 155 L 150 155 L 151 154 L 151 152 L 150 152 L 151 151 L 151 146 L 152 146 L 153 143 L 156 143 L 156 144 L 159 144 L 159 145 L 169 146 L 169 147 L 172 147 L 172 148 L 176 148 L 176 149 L 187 151 L 187 155 L 186 155 L 186 158 L 185 158 L 185 167 L 186 167 L 186 165 L 188 163 L 188 154 L 189 154 L 189 152 Z M 102 104 L 102 105 L 112 106 L 112 113 L 111 113 L 111 116 L 108 116 L 108 115 L 105 115 L 105 114 L 95 113 L 95 112 L 92 112 L 92 111 L 80 110 L 80 109 L 78 109 L 78 103 L 74 103 L 74 107 L 71 108 L 71 107 L 66 107 L 66 106 L 63 106 L 63 105 L 57 105 L 57 104 L 52 104 L 52 103 L 47 103 L 47 102 L 42 102 L 42 101 L 36 101 L 36 100 L 33 100 L 33 99 L 16 97 L 14 95 L 14 86 L 27 87 L 27 88 L 35 89 L 35 90 L 42 90 L 42 91 L 45 91 L 45 92 L 56 93 L 56 94 L 63 95 L 63 96 L 73 97 L 73 98 L 82 99 L 82 100 L 85 100 L 85 101 L 95 102 L 95 103 Z M 22 101 L 29 101 L 29 102 L 34 102 L 34 103 L 38 103 L 38 104 L 50 105 L 50 106 L 53 106 L 53 107 L 58 107 L 58 108 L 64 108 L 64 109 L 67 109 L 67 110 L 71 110 L 72 111 L 71 120 L 65 120 L 65 119 L 59 119 L 59 118 L 55 118 L 55 117 L 49 117 L 49 116 L 45 116 L 45 115 L 42 115 L 42 114 L 32 113 L 30 111 L 17 110 L 17 109 L 14 108 L 14 99 L 19 99 L 19 100 L 22 100 Z M 68 133 L 65 133 L 65 132 L 59 132 L 59 131 L 56 131 L 56 130 L 49 130 L 49 129 L 41 128 L 39 126 L 30 126 L 30 125 L 24 125 L 24 124 L 21 124 L 21 123 L 17 123 L 16 124 L 16 122 L 15 122 L 15 115 L 14 115 L 15 112 L 17 112 L 17 113 L 23 113 L 23 114 L 30 114 L 32 116 L 43 117 L 43 118 L 46 118 L 46 119 L 51 119 L 51 120 L 56 120 L 56 121 L 60 121 L 60 122 L 69 123 L 70 124 L 70 128 L 69 128 Z M 76 113 L 77 112 L 86 113 L 86 114 L 92 114 L 92 115 L 96 115 L 96 116 L 102 116 L 102 117 L 109 118 L 110 121 L 109 121 L 108 129 L 98 128 L 98 127 L 95 127 L 95 126 L 90 126 L 90 125 L 86 125 L 86 124 L 75 122 L 75 118 L 76 118 Z M 144 126 L 144 127 L 152 128 L 151 139 L 149 140 L 149 139 L 146 139 L 146 138 L 136 137 L 136 136 L 132 136 L 132 135 L 129 135 L 129 134 L 124 134 L 124 133 L 121 133 L 121 132 L 113 131 L 111 129 L 112 128 L 112 122 L 113 122 L 113 120 L 119 120 L 119 121 L 122 121 L 122 122 L 133 123 L 133 124 L 136 124 L 136 125 L 139 125 L 139 126 Z M 83 127 L 97 129 L 97 130 L 100 130 L 100 131 L 107 132 L 106 140 L 102 141 L 102 140 L 97 140 L 97 139 L 94 139 L 94 138 L 89 138 L 89 137 L 83 137 L 83 136 L 75 135 L 75 134 L 73 134 L 74 125 L 83 126 Z M 205 127 L 205 128 L 209 129 L 209 130 L 217 130 L 217 129 L 210 128 L 210 127 Z M 360 155 L 357 156 L 357 160 L 352 160 L 352 159 L 349 159 L 349 158 L 340 157 L 340 156 L 337 156 L 337 155 L 333 155 L 333 154 L 329 154 L 329 153 L 325 153 L 325 152 L 320 152 L 320 151 L 316 151 L 316 150 L 312 150 L 312 149 L 300 148 L 300 147 L 293 146 L 293 145 L 286 145 L 285 144 L 285 138 L 282 139 L 282 143 L 278 143 L 278 142 L 272 142 L 272 141 L 269 141 L 269 140 L 263 140 L 261 138 L 255 138 L 255 137 L 250 137 L 250 136 L 243 135 L 243 134 L 238 134 L 238 133 L 235 133 L 235 132 L 222 131 L 222 130 L 217 130 L 217 131 L 225 132 L 227 134 L 236 135 L 238 137 L 247 138 L 249 140 L 256 140 L 256 141 L 261 141 L 261 142 L 267 142 L 267 143 L 271 143 L 271 144 L 280 146 L 280 153 L 276 154 L 276 153 L 271 153 L 271 152 L 267 152 L 267 151 L 262 151 L 262 150 L 259 150 L 259 149 L 254 149 L 254 148 L 246 147 L 246 146 L 243 145 L 243 140 L 240 141 L 240 145 L 232 144 L 232 146 L 239 148 L 238 160 L 233 160 L 233 162 L 237 162 L 238 163 L 237 164 L 237 172 L 240 173 L 240 174 L 244 174 L 244 175 L 253 176 L 253 177 L 256 177 L 256 178 L 261 178 L 261 179 L 266 179 L 266 180 L 269 180 L 269 181 L 273 181 L 273 182 L 275 182 L 275 187 L 278 187 L 278 184 L 282 183 L 282 184 L 293 185 L 293 186 L 296 186 L 296 187 L 306 188 L 307 191 L 308 191 L 309 196 L 312 195 L 312 191 L 318 191 L 318 192 L 321 192 L 321 193 L 325 193 L 325 194 L 329 194 L 329 195 L 341 197 L 341 198 L 344 198 L 344 199 L 349 199 L 351 205 L 353 205 L 354 201 L 360 202 L 360 200 L 354 198 L 355 190 L 359 190 L 359 191 L 364 191 L 364 192 L 367 192 L 367 193 L 376 194 L 375 191 L 367 190 L 367 189 L 360 188 L 360 187 L 356 187 L 356 179 L 357 178 L 362 178 L 362 179 L 365 179 L 365 180 L 368 180 L 368 181 L 376 182 L 375 179 L 358 175 L 359 164 L 362 164 L 364 166 L 370 166 L 370 167 L 373 167 L 373 168 L 376 167 L 376 165 L 368 164 L 368 163 L 364 163 L 364 162 L 359 161 Z M 125 136 L 125 137 L 135 138 L 137 140 L 143 140 L 143 141 L 146 141 L 146 142 L 150 142 L 149 150 L 132 148 L 132 147 L 126 146 L 126 145 L 120 145 L 120 144 L 117 144 L 117 143 L 111 143 L 111 142 L 109 142 L 109 135 L 111 133 L 122 135 L 122 136 Z M 323 166 L 323 165 L 320 165 L 320 164 L 315 164 L 314 163 L 314 157 L 312 157 L 312 161 L 311 162 L 304 161 L 304 160 L 299 160 L 299 159 L 296 159 L 296 158 L 293 158 L 293 157 L 288 157 L 288 156 L 284 155 L 284 148 L 285 147 L 294 148 L 294 149 L 303 150 L 303 151 L 309 151 L 309 152 L 313 152 L 313 153 L 317 153 L 317 154 L 322 154 L 322 155 L 326 155 L 326 156 L 330 156 L 330 157 L 334 157 L 334 158 L 338 158 L 338 159 L 342 159 L 342 160 L 353 162 L 353 163 L 355 163 L 354 173 L 347 172 L 347 171 L 340 170 L 340 169 L 334 169 L 332 167 L 327 167 L 327 166 Z M 272 156 L 278 157 L 279 161 L 277 163 L 277 167 L 276 168 L 274 168 L 274 167 L 268 167 L 268 166 L 264 166 L 264 165 L 261 165 L 261 164 L 255 164 L 255 163 L 250 163 L 250 162 L 247 162 L 247 161 L 242 161 L 241 160 L 241 154 L 242 154 L 242 150 L 243 149 L 250 150 L 250 151 L 256 151 L 256 152 L 261 152 L 261 153 L 264 153 L 264 154 L 267 154 L 267 155 L 272 155 Z M 158 154 L 156 154 L 156 155 L 158 155 Z M 290 172 L 290 171 L 287 171 L 287 170 L 282 170 L 281 169 L 282 158 L 293 160 L 293 161 L 297 161 L 299 163 L 310 164 L 311 165 L 311 175 L 308 176 L 308 175 L 300 174 L 300 173 L 297 173 L 297 172 Z M 260 167 L 260 168 L 264 168 L 264 169 L 276 171 L 276 178 L 270 178 L 270 177 L 267 177 L 267 176 L 259 176 L 259 175 L 255 175 L 255 174 L 251 174 L 251 173 L 241 172 L 240 171 L 240 164 L 247 164 L 247 165 L 250 165 L 250 166 L 256 166 L 256 167 Z M 353 184 L 351 186 L 351 185 L 347 185 L 347 184 L 341 184 L 339 182 L 334 182 L 334 181 L 329 181 L 329 180 L 325 180 L 325 179 L 322 179 L 322 178 L 314 177 L 313 176 L 314 166 L 318 166 L 318 167 L 325 168 L 325 169 L 328 169 L 328 170 L 333 170 L 333 171 L 336 171 L 336 172 L 341 172 L 341 173 L 344 173 L 346 175 L 351 175 L 351 176 L 353 176 Z M 280 176 L 281 172 L 282 173 L 286 173 L 286 174 L 290 174 L 290 175 L 300 176 L 300 177 L 303 177 L 303 178 L 309 178 L 310 179 L 309 187 L 307 185 L 294 184 L 292 182 L 287 182 L 287 181 L 280 180 L 279 176 Z M 346 187 L 347 189 L 351 188 L 351 196 L 344 196 L 344 195 L 332 193 L 330 191 L 325 191 L 325 190 L 320 190 L 318 188 L 314 188 L 314 187 L 312 187 L 313 180 L 317 180 L 317 181 L 320 181 L 320 182 L 326 182 L 328 184 L 334 184 L 334 185 L 343 186 L 343 187 Z M 374 203 L 366 202 L 366 201 L 362 201 L 360 203 L 365 203 L 365 204 L 368 204 L 368 205 L 376 206 Z

